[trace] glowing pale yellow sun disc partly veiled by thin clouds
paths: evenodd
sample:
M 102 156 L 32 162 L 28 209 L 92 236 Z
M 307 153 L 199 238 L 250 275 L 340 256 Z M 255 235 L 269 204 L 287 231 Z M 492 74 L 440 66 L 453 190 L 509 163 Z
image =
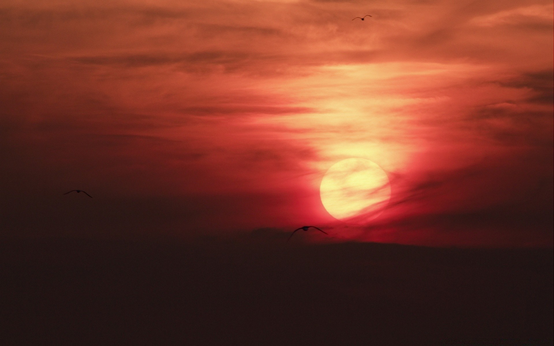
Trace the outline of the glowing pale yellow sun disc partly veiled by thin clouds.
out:
M 348 158 L 335 163 L 320 185 L 321 203 L 334 218 L 365 223 L 382 213 L 391 198 L 387 173 L 375 162 Z

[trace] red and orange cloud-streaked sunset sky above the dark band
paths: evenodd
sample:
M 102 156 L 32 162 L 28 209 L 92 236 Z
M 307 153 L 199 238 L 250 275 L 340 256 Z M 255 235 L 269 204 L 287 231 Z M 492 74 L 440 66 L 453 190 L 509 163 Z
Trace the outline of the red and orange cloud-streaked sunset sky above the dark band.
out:
M 2 236 L 552 246 L 551 1 L 8 0 L 0 47 Z

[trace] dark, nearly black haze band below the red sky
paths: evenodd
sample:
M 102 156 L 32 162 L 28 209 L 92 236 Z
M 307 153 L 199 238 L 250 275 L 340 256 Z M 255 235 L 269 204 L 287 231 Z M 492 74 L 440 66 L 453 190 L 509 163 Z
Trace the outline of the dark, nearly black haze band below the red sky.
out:
M 552 249 L 294 240 L 3 240 L 3 344 L 552 344 Z

